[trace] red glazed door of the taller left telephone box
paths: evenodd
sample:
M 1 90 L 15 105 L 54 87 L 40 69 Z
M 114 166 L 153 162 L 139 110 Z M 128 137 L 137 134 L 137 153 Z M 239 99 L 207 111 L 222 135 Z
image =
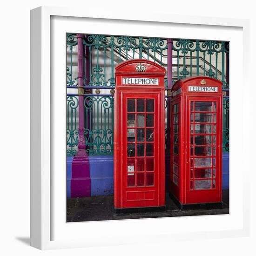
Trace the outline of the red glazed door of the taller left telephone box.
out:
M 159 205 L 159 94 L 124 93 L 123 207 Z

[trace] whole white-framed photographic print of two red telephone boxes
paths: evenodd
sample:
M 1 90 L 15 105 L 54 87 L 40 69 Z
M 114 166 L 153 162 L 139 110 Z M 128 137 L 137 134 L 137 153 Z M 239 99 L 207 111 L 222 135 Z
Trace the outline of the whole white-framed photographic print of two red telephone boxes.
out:
M 248 22 L 150 17 L 31 11 L 32 246 L 248 234 Z

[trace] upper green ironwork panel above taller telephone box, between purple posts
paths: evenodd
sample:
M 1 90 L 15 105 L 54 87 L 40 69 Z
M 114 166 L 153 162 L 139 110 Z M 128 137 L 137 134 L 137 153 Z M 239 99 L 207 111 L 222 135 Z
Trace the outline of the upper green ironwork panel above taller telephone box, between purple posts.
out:
M 131 59 L 147 59 L 162 66 L 167 63 L 167 44 L 161 38 L 88 35 L 90 79 L 85 86 L 115 87 L 115 65 Z M 164 59 L 166 62 L 164 62 Z

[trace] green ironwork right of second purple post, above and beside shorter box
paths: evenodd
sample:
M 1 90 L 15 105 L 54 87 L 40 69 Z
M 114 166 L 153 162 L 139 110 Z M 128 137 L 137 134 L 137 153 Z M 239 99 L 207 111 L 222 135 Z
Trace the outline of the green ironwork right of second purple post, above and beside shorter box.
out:
M 194 75 L 222 81 L 229 93 L 229 42 L 180 39 L 173 41 L 173 82 Z M 225 94 L 226 95 L 226 94 Z M 229 152 L 229 98 L 223 100 L 223 152 Z M 225 120 L 225 121 L 224 121 Z

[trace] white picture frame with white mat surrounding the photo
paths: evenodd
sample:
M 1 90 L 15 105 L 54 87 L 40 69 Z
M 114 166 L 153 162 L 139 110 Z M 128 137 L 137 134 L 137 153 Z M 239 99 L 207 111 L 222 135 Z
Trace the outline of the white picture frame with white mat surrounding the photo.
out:
M 154 10 L 150 14 L 88 12 L 79 7 L 31 10 L 31 246 L 64 249 L 133 244 L 138 236 L 140 243 L 159 243 L 249 235 L 249 133 L 243 126 L 249 123 L 249 100 L 246 91 L 239 90 L 241 84 L 252 86 L 245 61 L 249 21 Z M 230 41 L 229 215 L 66 222 L 66 32 Z M 235 123 L 237 116 L 242 117 L 240 123 Z

